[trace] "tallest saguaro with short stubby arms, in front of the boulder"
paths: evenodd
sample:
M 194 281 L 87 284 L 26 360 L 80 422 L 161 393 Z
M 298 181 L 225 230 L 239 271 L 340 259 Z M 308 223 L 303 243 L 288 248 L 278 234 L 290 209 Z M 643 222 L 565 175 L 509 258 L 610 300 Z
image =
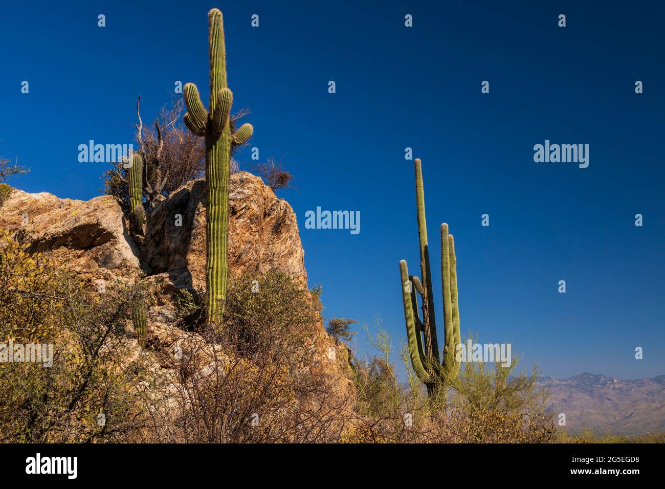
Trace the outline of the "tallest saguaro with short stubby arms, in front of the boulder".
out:
M 188 112 L 186 126 L 198 136 L 205 136 L 205 288 L 207 322 L 217 323 L 224 313 L 227 279 L 227 236 L 229 224 L 229 160 L 231 146 L 244 144 L 253 132 L 243 124 L 232 132 L 229 119 L 233 94 L 226 84 L 226 51 L 221 12 L 208 12 L 210 52 L 210 104 L 206 111 L 193 83 L 184 86 Z

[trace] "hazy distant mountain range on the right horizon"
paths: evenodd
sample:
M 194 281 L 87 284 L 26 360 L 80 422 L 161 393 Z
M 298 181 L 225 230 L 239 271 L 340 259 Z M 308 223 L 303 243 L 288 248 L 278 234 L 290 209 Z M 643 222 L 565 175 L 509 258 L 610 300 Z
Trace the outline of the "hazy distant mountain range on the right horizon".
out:
M 566 431 L 584 428 L 599 434 L 646 434 L 665 431 L 665 375 L 624 381 L 583 373 L 560 380 L 541 377 L 551 393 L 549 410 L 566 414 Z

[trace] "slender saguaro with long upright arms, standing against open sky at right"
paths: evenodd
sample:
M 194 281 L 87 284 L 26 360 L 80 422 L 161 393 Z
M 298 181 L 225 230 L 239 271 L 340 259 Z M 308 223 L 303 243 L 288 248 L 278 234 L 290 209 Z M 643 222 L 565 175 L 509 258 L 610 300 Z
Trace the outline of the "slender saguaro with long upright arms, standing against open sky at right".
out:
M 436 340 L 434 321 L 434 296 L 432 295 L 432 274 L 430 273 L 430 251 L 427 243 L 425 222 L 425 192 L 422 184 L 422 168 L 416 159 L 416 206 L 418 208 L 418 237 L 420 238 L 420 270 L 422 281 L 409 275 L 406 261 L 400 261 L 402 278 L 402 299 L 409 353 L 414 371 L 427 386 L 428 393 L 434 395 L 438 388 L 446 385 L 447 379 L 456 376 L 460 363 L 456 360 L 455 349 L 460 343 L 460 309 L 458 308 L 457 260 L 455 242 L 448 234 L 448 224 L 441 225 L 441 276 L 444 296 L 444 359 L 439 361 L 439 347 Z M 422 297 L 422 321 L 418 314 L 416 291 Z M 422 333 L 422 335 L 421 335 Z

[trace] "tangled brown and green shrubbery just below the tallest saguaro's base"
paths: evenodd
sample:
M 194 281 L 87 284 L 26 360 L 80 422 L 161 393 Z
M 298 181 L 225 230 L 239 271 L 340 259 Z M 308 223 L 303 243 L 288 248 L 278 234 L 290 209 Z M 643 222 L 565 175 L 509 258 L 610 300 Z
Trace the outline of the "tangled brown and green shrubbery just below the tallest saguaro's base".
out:
M 255 280 L 255 282 L 253 282 Z M 185 309 L 190 311 L 191 309 Z M 155 436 L 172 442 L 331 442 L 350 414 L 313 345 L 307 291 L 275 269 L 233 279 L 223 327 L 182 345 L 173 369 L 178 415 Z

